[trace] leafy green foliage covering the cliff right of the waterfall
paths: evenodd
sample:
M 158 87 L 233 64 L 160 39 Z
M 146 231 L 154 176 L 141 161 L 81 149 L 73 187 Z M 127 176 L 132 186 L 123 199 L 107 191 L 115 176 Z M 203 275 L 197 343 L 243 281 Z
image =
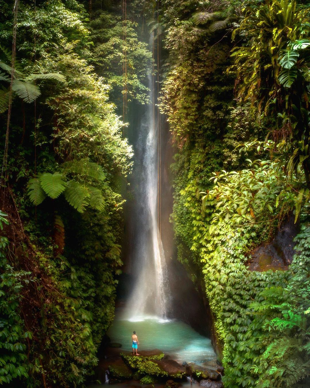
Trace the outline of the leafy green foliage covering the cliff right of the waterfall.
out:
M 229 388 L 295 386 L 310 371 L 308 18 L 295 1 L 165 2 L 172 222 L 179 260 L 204 274 Z M 293 264 L 249 270 L 300 213 Z

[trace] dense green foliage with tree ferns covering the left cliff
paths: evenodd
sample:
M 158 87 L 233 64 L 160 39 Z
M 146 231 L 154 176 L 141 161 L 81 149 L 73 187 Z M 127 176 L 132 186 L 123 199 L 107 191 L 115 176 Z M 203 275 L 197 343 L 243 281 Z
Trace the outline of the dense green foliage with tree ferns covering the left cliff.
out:
M 98 73 L 91 66 L 99 41 L 91 42 L 84 6 L 0 7 L 1 197 L 10 221 L 1 248 L 0 381 L 83 386 L 114 317 L 132 150 L 109 100 L 108 59 Z M 119 17 L 104 15 L 118 26 Z M 131 49 L 150 61 L 135 42 Z

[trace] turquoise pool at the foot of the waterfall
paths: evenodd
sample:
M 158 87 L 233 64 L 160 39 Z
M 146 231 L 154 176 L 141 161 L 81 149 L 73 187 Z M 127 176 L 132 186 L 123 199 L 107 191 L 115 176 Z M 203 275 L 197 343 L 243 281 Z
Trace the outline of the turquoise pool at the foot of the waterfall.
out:
M 131 334 L 138 335 L 139 350 L 160 349 L 178 362 L 201 363 L 215 359 L 211 340 L 198 334 L 192 327 L 177 320 L 153 316 L 132 319 L 116 317 L 107 335 L 111 342 L 122 344 L 122 349 L 132 350 Z

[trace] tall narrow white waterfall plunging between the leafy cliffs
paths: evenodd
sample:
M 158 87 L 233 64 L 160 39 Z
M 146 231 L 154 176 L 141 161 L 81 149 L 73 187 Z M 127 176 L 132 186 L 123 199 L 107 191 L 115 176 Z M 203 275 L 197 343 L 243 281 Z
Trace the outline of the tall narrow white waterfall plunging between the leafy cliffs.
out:
M 153 36 L 150 38 L 150 47 Z M 140 154 L 139 177 L 135 177 L 135 248 L 131 259 L 136 282 L 128 300 L 131 309 L 130 317 L 156 315 L 167 317 L 169 287 L 167 282 L 167 266 L 158 225 L 158 120 L 155 100 L 155 88 L 152 69 L 148 73 L 150 103 L 141 120 L 137 154 Z M 155 114 L 156 113 L 156 114 Z

